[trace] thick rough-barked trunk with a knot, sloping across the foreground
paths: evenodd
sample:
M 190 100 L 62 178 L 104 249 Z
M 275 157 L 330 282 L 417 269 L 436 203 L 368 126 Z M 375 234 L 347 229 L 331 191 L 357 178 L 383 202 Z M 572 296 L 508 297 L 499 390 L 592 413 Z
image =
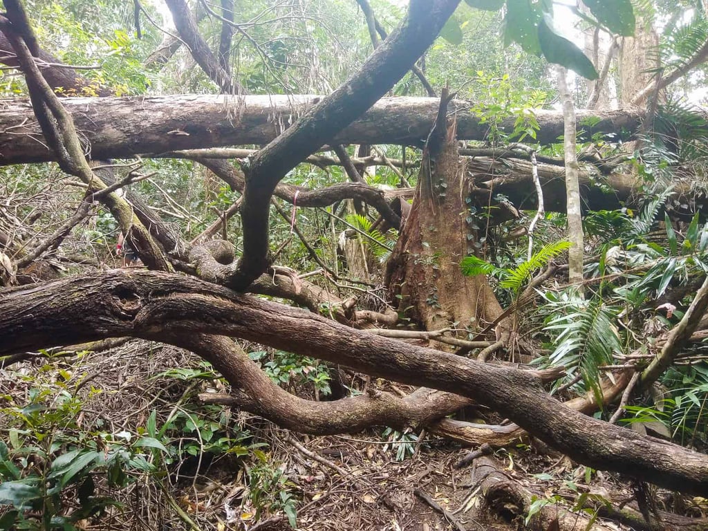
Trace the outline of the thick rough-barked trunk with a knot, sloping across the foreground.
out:
M 590 467 L 678 491 L 708 492 L 708 456 L 571 411 L 524 370 L 375 336 L 208 282 L 114 270 L 13 288 L 0 296 L 0 354 L 112 336 L 179 346 L 178 332 L 237 336 L 467 396 Z M 227 378 L 238 371 L 232 358 L 208 344 L 198 354 Z

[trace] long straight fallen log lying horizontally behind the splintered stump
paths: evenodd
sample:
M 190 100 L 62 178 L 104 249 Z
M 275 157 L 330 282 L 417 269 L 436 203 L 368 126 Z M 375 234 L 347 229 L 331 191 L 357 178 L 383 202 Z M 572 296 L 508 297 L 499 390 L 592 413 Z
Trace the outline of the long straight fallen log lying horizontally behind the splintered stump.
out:
M 62 103 L 92 159 L 130 158 L 176 149 L 242 144 L 267 144 L 319 102 L 321 96 L 135 96 L 67 98 Z M 421 145 L 438 112 L 438 98 L 382 98 L 359 120 L 333 139 L 340 144 Z M 488 125 L 470 110 L 472 103 L 455 100 L 459 139 L 484 139 Z M 47 149 L 26 100 L 0 103 L 0 165 L 55 160 Z M 556 142 L 563 117 L 554 110 L 536 110 L 540 143 Z M 593 117 L 593 127 L 583 118 Z M 599 121 L 595 122 L 595 118 Z M 588 135 L 635 131 L 641 113 L 610 111 L 578 113 Z M 513 130 L 514 118 L 501 129 Z

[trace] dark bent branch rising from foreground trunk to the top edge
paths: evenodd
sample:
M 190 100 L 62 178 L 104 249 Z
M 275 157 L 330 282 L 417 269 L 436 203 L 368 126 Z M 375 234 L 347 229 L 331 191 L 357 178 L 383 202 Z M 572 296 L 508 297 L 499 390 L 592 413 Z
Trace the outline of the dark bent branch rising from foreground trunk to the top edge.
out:
M 330 142 L 401 79 L 433 43 L 457 4 L 459 0 L 411 0 L 406 19 L 359 72 L 253 157 L 241 207 L 244 254 L 229 274 L 229 287 L 244 290 L 268 268 L 268 202 L 280 179 Z

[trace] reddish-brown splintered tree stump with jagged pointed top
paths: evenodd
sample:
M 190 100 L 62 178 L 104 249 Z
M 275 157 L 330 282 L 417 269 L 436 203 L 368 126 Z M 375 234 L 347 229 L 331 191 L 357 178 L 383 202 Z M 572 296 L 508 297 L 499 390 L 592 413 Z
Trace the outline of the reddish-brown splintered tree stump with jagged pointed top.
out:
M 454 121 L 446 123 L 441 104 L 423 154 L 411 214 L 387 265 L 386 283 L 399 297 L 399 308 L 427 330 L 453 323 L 479 330 L 502 311 L 486 278 L 466 277 L 459 268 L 476 234 L 466 221 L 465 164 L 455 131 Z

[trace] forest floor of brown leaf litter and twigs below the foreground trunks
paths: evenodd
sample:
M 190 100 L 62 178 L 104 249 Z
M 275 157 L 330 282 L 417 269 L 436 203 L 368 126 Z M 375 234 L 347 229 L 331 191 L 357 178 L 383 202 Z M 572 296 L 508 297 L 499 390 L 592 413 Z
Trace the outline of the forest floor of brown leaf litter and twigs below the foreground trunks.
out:
M 82 383 L 72 387 L 74 382 Z M 128 341 L 104 353 L 23 362 L 0 370 L 0 411 L 9 406 L 8 396 L 23 404 L 32 389 L 56 384 L 82 398 L 81 411 L 67 418 L 75 431 L 85 430 L 89 438 L 96 430 L 137 437 L 152 416 L 157 430 L 171 423 L 159 440 L 180 451 L 161 463 L 169 471 L 161 477 L 137 474 L 137 481 L 118 491 L 97 481 L 120 506 L 81 520 L 80 529 L 287 530 L 290 509 L 298 530 L 527 528 L 513 501 L 493 510 L 486 506 L 474 463 L 455 469 L 471 449 L 425 430 L 372 428 L 314 437 L 235 409 L 198 404 L 198 393 L 226 389 L 183 350 Z M 159 452 L 152 458 L 159 459 Z M 580 493 L 632 496 L 612 476 L 556 452 L 538 452 L 534 443 L 497 450 L 490 459 L 499 477 L 545 500 L 547 509 L 567 508 Z M 67 490 L 66 510 L 76 505 L 76 494 Z

